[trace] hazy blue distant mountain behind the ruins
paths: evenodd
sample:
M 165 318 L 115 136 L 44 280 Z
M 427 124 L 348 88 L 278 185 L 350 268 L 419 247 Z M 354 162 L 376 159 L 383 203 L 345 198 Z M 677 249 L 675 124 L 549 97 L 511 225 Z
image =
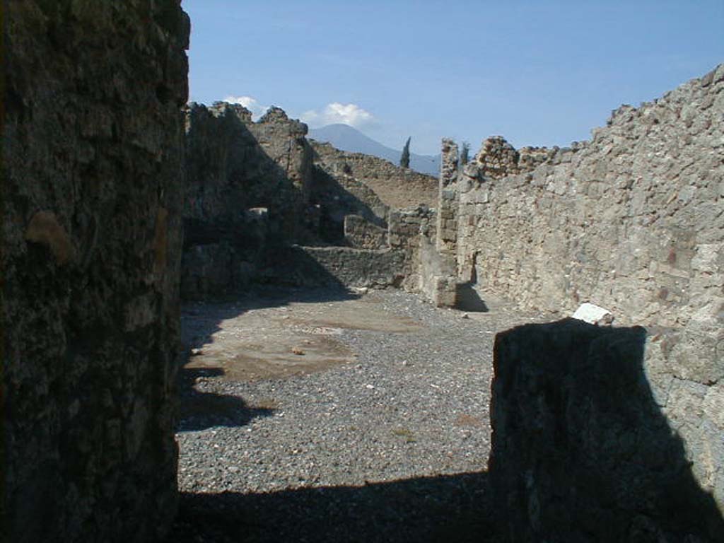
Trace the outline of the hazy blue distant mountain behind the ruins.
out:
M 392 164 L 400 164 L 402 144 L 399 149 L 392 149 L 382 145 L 379 141 L 364 135 L 349 125 L 327 125 L 321 128 L 310 128 L 309 137 L 317 141 L 326 141 L 342 151 L 351 153 L 365 153 L 387 159 Z M 412 145 L 415 142 L 413 141 Z M 440 156 L 417 155 L 410 153 L 410 167 L 417 172 L 437 177 L 440 173 Z

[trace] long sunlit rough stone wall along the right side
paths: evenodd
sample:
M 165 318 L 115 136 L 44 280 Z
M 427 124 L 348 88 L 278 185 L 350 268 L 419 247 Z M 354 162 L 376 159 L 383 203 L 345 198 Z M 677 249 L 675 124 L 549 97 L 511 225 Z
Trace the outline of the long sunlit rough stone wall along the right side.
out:
M 644 371 L 724 511 L 724 65 L 532 172 L 460 186 L 458 267 L 525 308 L 647 327 Z

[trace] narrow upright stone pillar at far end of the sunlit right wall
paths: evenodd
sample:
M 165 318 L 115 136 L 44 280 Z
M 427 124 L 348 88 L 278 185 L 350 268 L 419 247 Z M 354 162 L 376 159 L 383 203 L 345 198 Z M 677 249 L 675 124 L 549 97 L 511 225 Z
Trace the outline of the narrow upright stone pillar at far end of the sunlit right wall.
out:
M 458 146 L 442 140 L 440 180 L 437 197 L 437 242 L 440 253 L 455 253 L 458 240 Z

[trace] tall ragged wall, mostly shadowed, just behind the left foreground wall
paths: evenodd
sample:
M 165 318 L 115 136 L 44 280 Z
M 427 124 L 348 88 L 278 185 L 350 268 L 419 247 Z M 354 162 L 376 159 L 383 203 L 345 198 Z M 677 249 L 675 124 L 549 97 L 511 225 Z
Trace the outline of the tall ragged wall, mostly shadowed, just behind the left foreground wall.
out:
M 272 108 L 258 122 L 243 106 L 190 104 L 182 297 L 242 289 L 269 243 L 309 240 L 312 151 L 307 127 Z

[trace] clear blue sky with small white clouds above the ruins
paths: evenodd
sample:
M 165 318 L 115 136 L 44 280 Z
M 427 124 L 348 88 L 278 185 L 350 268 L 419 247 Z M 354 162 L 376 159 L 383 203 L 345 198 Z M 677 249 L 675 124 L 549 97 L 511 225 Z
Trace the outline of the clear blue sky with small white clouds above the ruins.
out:
M 724 62 L 724 0 L 182 0 L 190 100 L 275 105 L 392 148 L 588 139 Z

